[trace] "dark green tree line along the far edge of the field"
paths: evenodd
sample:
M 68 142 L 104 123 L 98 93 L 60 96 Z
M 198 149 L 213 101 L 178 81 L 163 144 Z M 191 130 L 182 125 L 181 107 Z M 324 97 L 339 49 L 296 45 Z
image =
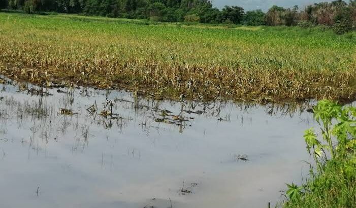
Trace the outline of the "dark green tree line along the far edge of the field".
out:
M 23 10 L 27 13 L 52 11 L 108 17 L 151 19 L 163 22 L 235 23 L 246 25 L 347 25 L 356 24 L 356 0 L 337 0 L 310 5 L 273 6 L 247 11 L 242 7 L 213 8 L 210 0 L 0 0 L 0 9 Z

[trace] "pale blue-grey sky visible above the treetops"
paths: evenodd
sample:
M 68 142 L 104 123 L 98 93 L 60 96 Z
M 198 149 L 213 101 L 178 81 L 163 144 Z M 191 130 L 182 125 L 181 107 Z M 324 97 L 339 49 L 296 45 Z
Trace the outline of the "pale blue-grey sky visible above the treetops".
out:
M 213 0 L 213 5 L 219 9 L 225 5 L 236 5 L 244 8 L 245 11 L 255 9 L 267 11 L 273 5 L 286 8 L 298 5 L 299 8 L 303 8 L 303 6 L 318 2 L 327 2 L 327 0 Z

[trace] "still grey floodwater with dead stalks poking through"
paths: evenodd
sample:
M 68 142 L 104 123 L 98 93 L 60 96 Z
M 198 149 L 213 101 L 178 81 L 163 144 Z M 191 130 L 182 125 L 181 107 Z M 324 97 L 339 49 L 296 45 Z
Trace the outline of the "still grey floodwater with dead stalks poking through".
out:
M 0 84 L 0 207 L 267 207 L 311 161 L 306 106 Z

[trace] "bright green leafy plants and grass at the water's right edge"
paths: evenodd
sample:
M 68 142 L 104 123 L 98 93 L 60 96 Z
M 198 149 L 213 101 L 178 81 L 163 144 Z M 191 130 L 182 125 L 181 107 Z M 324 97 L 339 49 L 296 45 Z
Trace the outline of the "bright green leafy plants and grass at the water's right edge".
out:
M 309 129 L 304 138 L 316 167 L 304 185 L 287 185 L 283 207 L 356 207 L 356 108 L 322 100 L 314 118 L 321 133 Z

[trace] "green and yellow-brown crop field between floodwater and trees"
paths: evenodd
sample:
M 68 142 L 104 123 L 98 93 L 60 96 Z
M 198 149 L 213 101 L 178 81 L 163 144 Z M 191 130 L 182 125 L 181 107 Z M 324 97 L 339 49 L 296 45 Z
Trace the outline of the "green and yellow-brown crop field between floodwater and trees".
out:
M 0 72 L 35 84 L 255 101 L 356 99 L 356 33 L 0 13 Z

